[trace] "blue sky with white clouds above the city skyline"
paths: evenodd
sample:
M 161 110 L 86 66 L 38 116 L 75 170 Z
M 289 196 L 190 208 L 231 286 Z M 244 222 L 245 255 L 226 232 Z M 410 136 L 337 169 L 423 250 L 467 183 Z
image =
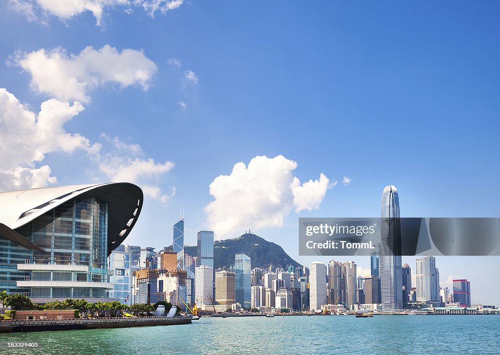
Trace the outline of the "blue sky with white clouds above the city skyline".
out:
M 0 188 L 125 178 L 148 187 L 130 244 L 171 244 L 185 204 L 187 244 L 201 229 L 251 228 L 304 264 L 314 260 L 298 256 L 299 216 L 377 216 L 387 184 L 402 216 L 498 216 L 497 2 L 162 1 L 153 17 L 148 0 L 122 3 L 101 16 L 0 5 L 0 88 L 23 105 L 2 101 L 2 140 L 29 129 L 8 125 L 10 112 L 38 114 L 51 99 L 70 107 L 41 110 L 59 118 L 59 135 L 40 125 L 24 150 L 0 147 L 12 158 Z M 69 142 L 54 144 L 64 134 Z M 43 159 L 28 154 L 37 147 Z M 269 159 L 250 169 L 257 156 Z M 500 305 L 488 283 L 499 261 L 436 263 L 441 281 L 467 278 L 473 302 Z

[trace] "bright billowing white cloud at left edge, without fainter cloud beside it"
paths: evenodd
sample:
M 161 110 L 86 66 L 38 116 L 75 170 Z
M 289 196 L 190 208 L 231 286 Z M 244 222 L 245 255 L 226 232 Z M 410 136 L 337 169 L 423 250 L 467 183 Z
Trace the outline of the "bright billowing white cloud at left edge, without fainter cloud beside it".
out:
M 0 189 L 42 187 L 56 182 L 47 165 L 35 168 L 45 155 L 55 151 L 73 153 L 83 149 L 93 154 L 98 144 L 70 134 L 63 125 L 83 110 L 78 102 L 70 105 L 50 99 L 40 111 L 23 107 L 14 95 L 0 89 Z

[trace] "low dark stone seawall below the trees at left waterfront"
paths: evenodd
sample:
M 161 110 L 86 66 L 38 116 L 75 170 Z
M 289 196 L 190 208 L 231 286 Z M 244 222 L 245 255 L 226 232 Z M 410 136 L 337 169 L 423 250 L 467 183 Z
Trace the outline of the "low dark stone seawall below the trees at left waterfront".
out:
M 130 326 L 153 326 L 189 324 L 191 317 L 140 317 L 113 319 L 66 319 L 66 320 L 3 320 L 0 322 L 0 333 L 76 330 L 99 328 L 126 328 Z

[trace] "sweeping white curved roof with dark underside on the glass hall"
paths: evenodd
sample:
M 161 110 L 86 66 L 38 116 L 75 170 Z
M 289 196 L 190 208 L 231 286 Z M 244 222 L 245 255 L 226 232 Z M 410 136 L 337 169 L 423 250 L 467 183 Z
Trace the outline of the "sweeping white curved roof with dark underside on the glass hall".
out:
M 142 190 L 126 182 L 6 191 L 0 192 L 0 223 L 19 228 L 76 196 L 108 203 L 108 253 L 128 236 L 143 201 Z

